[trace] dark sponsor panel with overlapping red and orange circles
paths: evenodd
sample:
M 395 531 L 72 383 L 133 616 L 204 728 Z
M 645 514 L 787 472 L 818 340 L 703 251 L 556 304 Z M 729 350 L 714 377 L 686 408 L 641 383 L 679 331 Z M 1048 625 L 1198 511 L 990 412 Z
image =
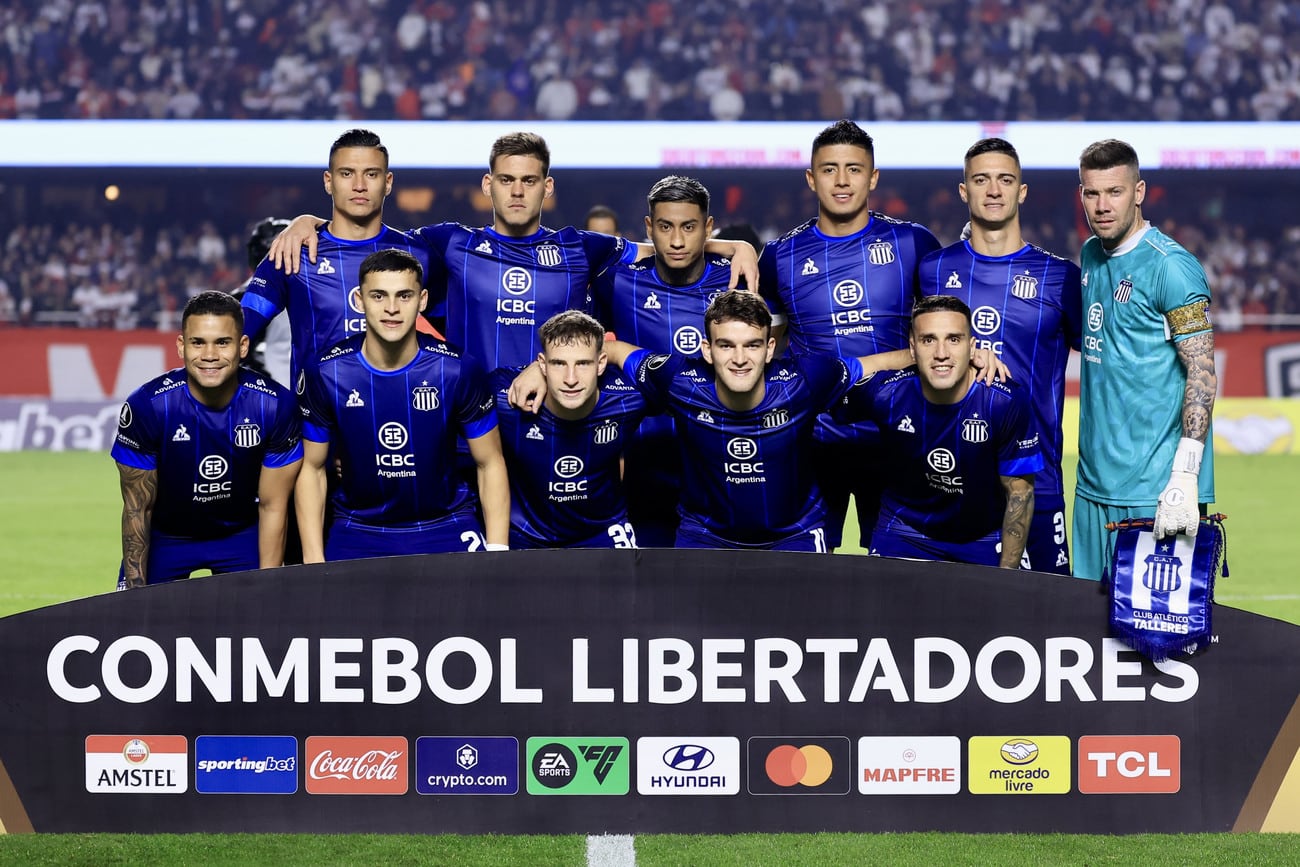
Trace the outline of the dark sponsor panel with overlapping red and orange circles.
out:
M 745 749 L 750 794 L 849 794 L 846 737 L 751 737 Z

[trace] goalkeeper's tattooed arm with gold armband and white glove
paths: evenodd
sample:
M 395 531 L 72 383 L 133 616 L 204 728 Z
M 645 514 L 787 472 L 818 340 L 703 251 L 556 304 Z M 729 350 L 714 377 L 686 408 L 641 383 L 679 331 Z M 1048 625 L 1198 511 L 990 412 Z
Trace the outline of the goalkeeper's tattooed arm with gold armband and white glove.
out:
M 1174 452 L 1169 482 L 1156 502 L 1156 538 L 1186 533 L 1196 536 L 1200 526 L 1200 472 L 1214 413 L 1218 373 L 1214 369 L 1214 331 L 1209 321 L 1209 303 L 1192 302 L 1165 313 L 1169 333 L 1175 338 L 1174 351 L 1183 365 L 1183 435 Z M 1183 339 L 1176 339 L 1179 335 Z

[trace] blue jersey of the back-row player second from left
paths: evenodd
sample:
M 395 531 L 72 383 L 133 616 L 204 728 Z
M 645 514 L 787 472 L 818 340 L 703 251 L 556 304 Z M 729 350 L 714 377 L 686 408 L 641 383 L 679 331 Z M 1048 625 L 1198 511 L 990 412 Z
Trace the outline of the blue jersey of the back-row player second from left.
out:
M 623 238 L 568 226 L 508 238 L 441 222 L 412 237 L 428 250 L 429 305 L 443 317 L 447 342 L 484 370 L 536 359 L 537 328 L 567 309 L 592 312 L 592 281 L 637 250 Z

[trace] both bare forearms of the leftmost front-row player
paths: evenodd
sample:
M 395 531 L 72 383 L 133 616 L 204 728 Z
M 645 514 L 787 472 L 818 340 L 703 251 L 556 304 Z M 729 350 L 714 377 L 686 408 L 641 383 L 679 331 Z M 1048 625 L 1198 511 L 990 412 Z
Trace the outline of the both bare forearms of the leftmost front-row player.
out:
M 257 476 L 257 568 L 285 564 L 289 495 L 294 490 L 300 461 L 283 467 L 263 467 Z M 122 489 L 122 572 L 127 588 L 143 588 L 148 581 L 150 530 L 157 502 L 159 471 L 129 467 L 117 461 Z

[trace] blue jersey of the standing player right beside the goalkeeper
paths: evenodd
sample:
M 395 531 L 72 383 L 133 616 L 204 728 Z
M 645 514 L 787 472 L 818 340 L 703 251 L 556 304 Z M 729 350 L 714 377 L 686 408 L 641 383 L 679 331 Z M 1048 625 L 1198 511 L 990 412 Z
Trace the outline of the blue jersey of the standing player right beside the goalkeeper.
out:
M 1024 386 L 1044 459 L 1034 480 L 1034 507 L 1065 508 L 1061 419 L 1066 361 L 1070 348 L 1079 347 L 1083 320 L 1078 265 L 1034 244 L 982 256 L 962 240 L 926 256 L 920 291 L 966 302 L 975 346 L 996 352 Z

